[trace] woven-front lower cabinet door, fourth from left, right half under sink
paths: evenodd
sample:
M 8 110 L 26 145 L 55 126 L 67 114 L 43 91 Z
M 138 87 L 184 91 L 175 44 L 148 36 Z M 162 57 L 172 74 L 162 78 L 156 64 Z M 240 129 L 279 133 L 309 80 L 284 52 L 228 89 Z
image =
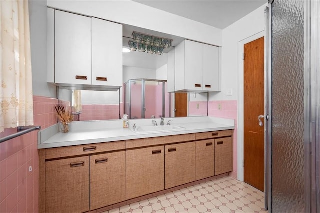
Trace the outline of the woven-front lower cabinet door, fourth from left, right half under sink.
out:
M 165 146 L 165 189 L 195 181 L 195 142 Z

